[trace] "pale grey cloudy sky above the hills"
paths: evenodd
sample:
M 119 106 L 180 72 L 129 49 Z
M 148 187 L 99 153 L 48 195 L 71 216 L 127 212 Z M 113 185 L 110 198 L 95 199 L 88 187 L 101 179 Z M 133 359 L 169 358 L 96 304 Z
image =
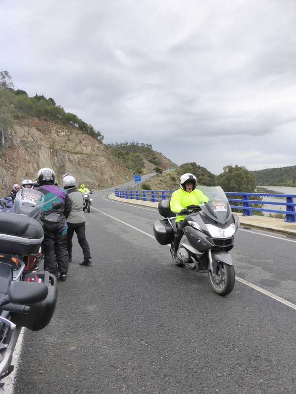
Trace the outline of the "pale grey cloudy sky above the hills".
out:
M 1 0 L 0 71 L 104 143 L 214 174 L 296 165 L 295 0 Z

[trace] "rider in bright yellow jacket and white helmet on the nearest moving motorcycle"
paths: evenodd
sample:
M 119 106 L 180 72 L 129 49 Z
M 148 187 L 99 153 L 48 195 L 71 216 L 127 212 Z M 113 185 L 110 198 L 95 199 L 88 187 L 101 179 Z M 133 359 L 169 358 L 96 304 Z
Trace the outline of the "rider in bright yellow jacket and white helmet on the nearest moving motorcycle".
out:
M 204 202 L 208 202 L 208 197 L 203 194 L 201 190 L 195 189 L 196 177 L 193 174 L 186 173 L 180 177 L 180 189 L 174 191 L 171 197 L 170 208 L 171 211 L 177 214 L 176 226 L 178 228 L 178 233 L 175 234 L 173 242 L 173 253 L 176 262 L 181 260 L 177 256 L 178 247 L 183 236 L 183 226 L 186 215 L 189 211 L 186 207 L 189 205 L 202 205 Z M 179 261 L 180 260 L 180 261 Z

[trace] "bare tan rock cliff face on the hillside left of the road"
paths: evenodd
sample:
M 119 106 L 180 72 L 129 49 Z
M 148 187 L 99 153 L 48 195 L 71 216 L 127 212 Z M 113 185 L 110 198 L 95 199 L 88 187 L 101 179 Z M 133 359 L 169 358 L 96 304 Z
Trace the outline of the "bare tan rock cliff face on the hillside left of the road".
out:
M 133 179 L 133 172 L 111 156 L 104 143 L 75 128 L 40 119 L 16 120 L 5 136 L 3 152 L 0 157 L 1 197 L 14 183 L 26 178 L 36 180 L 42 167 L 55 171 L 59 185 L 65 173 L 73 175 L 77 183 L 93 189 Z M 161 153 L 156 154 L 163 168 L 172 166 Z M 153 172 L 154 167 L 146 162 L 145 172 Z

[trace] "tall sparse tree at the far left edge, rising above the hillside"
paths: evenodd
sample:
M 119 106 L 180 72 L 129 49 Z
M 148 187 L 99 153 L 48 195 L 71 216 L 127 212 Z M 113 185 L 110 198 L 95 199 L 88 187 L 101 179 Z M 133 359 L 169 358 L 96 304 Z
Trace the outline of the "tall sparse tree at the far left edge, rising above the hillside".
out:
M 13 87 L 11 76 L 8 71 L 0 72 L 0 127 L 2 133 L 2 146 L 4 145 L 4 135 L 8 127 L 13 123 L 13 106 L 10 88 Z

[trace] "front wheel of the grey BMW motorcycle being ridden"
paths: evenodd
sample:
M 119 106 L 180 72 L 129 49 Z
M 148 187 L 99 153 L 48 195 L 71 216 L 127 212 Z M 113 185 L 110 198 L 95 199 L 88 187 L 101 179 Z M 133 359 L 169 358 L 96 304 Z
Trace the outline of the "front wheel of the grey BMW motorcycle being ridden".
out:
M 219 295 L 229 294 L 235 283 L 235 272 L 233 265 L 218 261 L 217 272 L 208 271 L 213 290 Z

